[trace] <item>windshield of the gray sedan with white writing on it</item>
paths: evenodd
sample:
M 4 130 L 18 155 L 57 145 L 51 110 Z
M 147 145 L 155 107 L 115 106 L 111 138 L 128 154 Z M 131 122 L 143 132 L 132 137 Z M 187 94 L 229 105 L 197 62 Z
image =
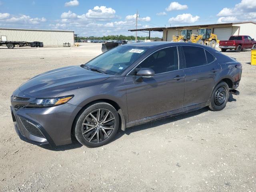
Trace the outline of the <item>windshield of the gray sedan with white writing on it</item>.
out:
M 89 61 L 86 67 L 110 75 L 120 75 L 146 50 L 147 47 L 118 46 Z

